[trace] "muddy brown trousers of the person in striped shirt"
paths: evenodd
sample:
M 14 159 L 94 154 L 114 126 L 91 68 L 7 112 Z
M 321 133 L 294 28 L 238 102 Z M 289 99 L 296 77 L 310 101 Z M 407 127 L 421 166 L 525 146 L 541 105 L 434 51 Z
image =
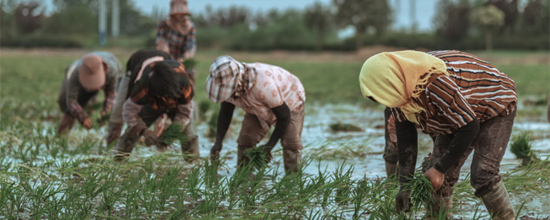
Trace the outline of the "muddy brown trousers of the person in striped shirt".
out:
M 502 177 L 498 174 L 500 161 L 502 161 L 511 129 L 516 118 L 516 111 L 505 116 L 497 116 L 480 124 L 479 133 L 474 138 L 472 145 L 459 159 L 459 162 L 450 166 L 445 172 L 443 186 L 437 191 L 438 197 L 452 195 L 453 186 L 459 180 L 460 168 L 468 155 L 474 151 L 472 164 L 470 165 L 470 184 L 476 190 L 474 195 L 481 197 L 492 186 L 498 184 Z M 434 166 L 443 156 L 454 135 L 438 135 L 432 152 L 432 159 L 428 167 Z M 435 199 L 435 198 L 434 198 Z

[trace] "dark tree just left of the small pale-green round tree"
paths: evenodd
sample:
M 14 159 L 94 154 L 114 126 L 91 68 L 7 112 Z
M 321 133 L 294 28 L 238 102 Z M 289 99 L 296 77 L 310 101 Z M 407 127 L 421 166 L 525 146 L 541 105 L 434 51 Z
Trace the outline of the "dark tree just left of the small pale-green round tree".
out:
M 470 2 L 440 0 L 434 17 L 436 33 L 449 41 L 461 41 L 470 29 Z

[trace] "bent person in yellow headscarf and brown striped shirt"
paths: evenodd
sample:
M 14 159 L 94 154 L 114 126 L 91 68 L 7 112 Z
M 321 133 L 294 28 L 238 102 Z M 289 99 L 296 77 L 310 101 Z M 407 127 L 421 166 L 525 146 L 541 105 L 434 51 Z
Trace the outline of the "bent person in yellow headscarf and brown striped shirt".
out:
M 498 175 L 516 116 L 514 81 L 493 65 L 459 51 L 384 52 L 367 59 L 360 72 L 363 96 L 392 108 L 399 151 L 397 212 L 410 210 L 417 158 L 417 131 L 437 134 L 428 171 L 434 202 L 428 217 L 452 204 L 460 167 L 474 151 L 470 166 L 475 195 L 495 219 L 515 219 Z

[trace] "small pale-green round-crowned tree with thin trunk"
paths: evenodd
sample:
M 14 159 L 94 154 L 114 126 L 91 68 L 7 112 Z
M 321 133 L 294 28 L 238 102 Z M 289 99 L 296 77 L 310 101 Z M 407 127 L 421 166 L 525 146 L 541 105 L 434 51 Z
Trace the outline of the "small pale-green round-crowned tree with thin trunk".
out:
M 495 5 L 485 5 L 472 14 L 472 21 L 485 31 L 485 50 L 493 49 L 492 32 L 504 25 L 504 17 L 504 12 Z

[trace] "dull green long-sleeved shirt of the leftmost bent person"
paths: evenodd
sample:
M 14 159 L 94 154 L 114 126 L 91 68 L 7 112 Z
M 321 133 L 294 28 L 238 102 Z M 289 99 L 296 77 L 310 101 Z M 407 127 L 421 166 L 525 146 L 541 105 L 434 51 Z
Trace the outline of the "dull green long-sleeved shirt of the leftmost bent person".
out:
M 114 96 L 116 94 L 118 77 L 122 76 L 123 74 L 122 65 L 120 65 L 120 61 L 118 61 L 118 58 L 116 58 L 115 56 L 113 56 L 113 54 L 109 52 L 91 52 L 89 54 L 100 56 L 101 58 L 103 58 L 103 61 L 109 66 L 109 71 L 107 72 L 107 76 L 105 77 L 104 86 L 105 100 L 109 101 L 109 103 L 104 102 L 103 109 L 106 111 L 110 111 L 111 107 L 113 106 L 113 103 L 111 102 L 114 102 Z M 65 73 L 65 80 L 67 80 L 66 101 L 67 111 L 69 112 L 69 114 L 72 115 L 74 118 L 77 118 L 79 122 L 83 122 L 83 120 L 88 118 L 88 116 L 77 101 L 78 90 L 82 87 L 82 85 L 80 85 L 80 80 L 78 80 L 78 69 L 80 69 L 80 65 L 82 65 L 82 58 L 74 61 L 73 63 L 71 63 L 71 65 L 69 65 L 69 67 L 67 67 L 67 72 Z

